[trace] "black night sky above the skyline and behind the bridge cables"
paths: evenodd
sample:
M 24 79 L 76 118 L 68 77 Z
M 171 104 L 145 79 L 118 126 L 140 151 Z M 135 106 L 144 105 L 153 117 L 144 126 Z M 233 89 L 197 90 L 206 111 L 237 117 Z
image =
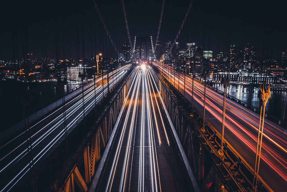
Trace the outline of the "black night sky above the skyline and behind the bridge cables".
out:
M 136 36 L 156 41 L 162 1 L 125 0 L 133 43 Z M 165 1 L 159 41 L 174 41 L 191 1 Z M 96 1 L 120 52 L 128 42 L 121 0 Z M 34 57 L 82 58 L 112 54 L 93 1 L 1 1 L 0 59 Z M 228 52 L 228 45 L 258 49 L 258 56 L 281 56 L 287 48 L 286 1 L 194 0 L 178 42 L 203 50 Z M 24 46 L 23 46 L 24 45 Z

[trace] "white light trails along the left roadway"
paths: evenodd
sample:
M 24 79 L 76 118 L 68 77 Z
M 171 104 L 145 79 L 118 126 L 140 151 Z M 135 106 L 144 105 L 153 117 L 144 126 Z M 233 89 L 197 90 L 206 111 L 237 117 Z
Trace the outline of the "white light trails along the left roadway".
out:
M 125 75 L 125 73 L 127 72 L 127 67 L 128 66 L 125 66 L 124 68 L 122 68 L 122 70 L 117 73 L 114 73 L 113 75 L 109 75 L 110 77 L 114 78 L 114 76 L 120 76 L 120 77 L 117 77 L 117 79 L 115 80 L 115 82 L 117 83 L 117 81 L 119 81 L 121 79 L 121 77 L 123 77 L 123 75 Z M 93 83 L 93 82 L 91 82 Z M 90 84 L 90 83 L 89 83 Z M 112 88 L 114 86 L 114 83 L 110 83 L 109 87 Z M 107 87 L 107 83 L 104 84 L 104 87 Z M 88 110 L 91 110 L 92 106 L 95 104 L 95 100 L 98 101 L 101 97 L 102 97 L 102 85 L 98 86 L 96 89 L 94 89 L 94 86 L 92 86 L 92 88 L 88 88 L 85 90 L 85 95 L 84 95 L 84 103 L 87 104 L 86 107 L 85 107 L 85 111 L 88 111 Z M 108 90 L 108 88 L 105 88 L 104 89 L 104 93 L 106 93 Z M 94 97 L 95 94 L 98 94 L 100 93 L 96 98 Z M 69 109 L 66 110 L 66 114 L 67 114 L 67 119 L 69 117 L 71 117 L 74 113 L 78 112 L 79 109 L 82 108 L 82 95 L 79 95 L 77 98 L 74 98 L 72 99 L 71 101 L 69 101 L 68 103 L 73 103 L 73 101 L 76 101 L 75 104 L 73 104 L 71 107 L 69 107 Z M 67 103 L 67 104 L 68 104 Z M 57 111 L 61 111 L 61 108 L 60 109 L 57 109 L 56 111 L 54 111 L 52 114 L 50 114 L 49 116 L 45 117 L 44 119 L 47 119 L 48 117 L 50 117 L 51 115 L 53 114 L 56 114 Z M 82 115 L 84 114 L 84 110 L 81 109 L 81 111 L 79 111 L 77 113 L 77 116 L 74 117 L 72 119 L 71 122 L 69 122 L 69 124 L 67 125 L 67 130 L 69 130 L 76 122 L 77 120 L 79 120 Z M 30 163 L 26 164 L 26 166 L 24 166 L 24 168 L 22 170 L 20 170 L 20 172 L 18 172 L 14 178 L 12 178 L 9 183 L 1 190 L 1 191 L 4 191 L 4 190 L 7 190 L 9 191 L 29 170 L 30 168 L 32 168 L 32 166 L 34 166 L 42 157 L 43 155 L 45 155 L 49 149 L 51 149 L 51 147 L 53 147 L 55 145 L 55 143 L 57 141 L 59 141 L 60 138 L 63 138 L 64 136 L 64 131 L 65 129 L 62 129 L 62 130 L 59 130 L 60 132 L 59 133 L 56 133 L 57 135 L 56 136 L 53 136 L 53 139 L 51 141 L 45 141 L 44 139 L 49 139 L 48 136 L 52 133 L 54 133 L 54 131 L 63 123 L 63 113 L 61 112 L 60 115 L 58 115 L 56 118 L 54 118 L 52 121 L 49 121 L 48 124 L 46 126 L 44 126 L 43 128 L 41 128 L 40 130 L 38 130 L 36 133 L 34 133 L 31 138 L 33 137 L 36 137 L 38 133 L 40 133 L 40 131 L 44 130 L 45 128 L 48 128 L 48 126 L 53 123 L 55 123 L 51 128 L 49 128 L 48 130 L 46 130 L 43 134 L 41 134 L 41 136 L 39 138 L 36 138 L 35 141 L 33 141 L 33 143 L 31 144 L 31 146 L 29 147 L 29 149 L 27 149 L 26 147 L 24 148 L 24 151 L 20 152 L 20 154 L 18 154 L 14 159 L 12 159 L 8 164 L 6 164 L 1 170 L 0 170 L 0 173 L 2 171 L 4 171 L 5 169 L 11 167 L 11 166 L 14 166 L 14 164 L 18 164 L 20 165 L 20 162 L 21 163 L 25 163 L 25 162 L 22 162 L 24 161 L 23 157 L 25 157 L 27 154 L 28 154 L 28 151 L 31 151 L 32 149 L 34 149 L 35 147 L 37 147 L 38 144 L 42 143 L 42 142 L 46 142 L 46 146 L 44 146 L 42 148 L 42 150 L 40 150 L 40 152 L 38 152 L 38 154 L 36 154 L 33 159 L 30 161 Z M 43 121 L 43 119 L 41 120 Z M 39 122 L 38 122 L 39 123 Z M 38 124 L 37 123 L 37 124 Z M 36 125 L 34 125 L 36 126 Z M 33 126 L 33 127 L 34 127 Z M 18 136 L 17 136 L 18 137 Z M 11 141 L 10 141 L 11 142 Z M 27 142 L 27 141 L 25 141 Z M 20 145 L 18 145 L 16 148 L 14 148 L 12 150 L 15 151 L 16 149 L 20 148 L 23 144 L 25 144 L 25 142 L 22 142 Z M 5 146 L 5 145 L 4 145 Z M 2 146 L 2 147 L 4 147 Z M 0 161 L 3 161 L 4 158 L 7 158 L 10 154 L 12 154 L 11 152 L 7 155 L 5 155 L 4 157 L 2 157 L 0 159 Z M 28 169 L 27 169 L 28 168 Z M 17 168 L 19 169 L 19 168 Z M 26 171 L 25 171 L 26 170 Z M 11 185 L 11 186 L 10 186 Z M 10 187 L 9 187 L 10 186 Z

